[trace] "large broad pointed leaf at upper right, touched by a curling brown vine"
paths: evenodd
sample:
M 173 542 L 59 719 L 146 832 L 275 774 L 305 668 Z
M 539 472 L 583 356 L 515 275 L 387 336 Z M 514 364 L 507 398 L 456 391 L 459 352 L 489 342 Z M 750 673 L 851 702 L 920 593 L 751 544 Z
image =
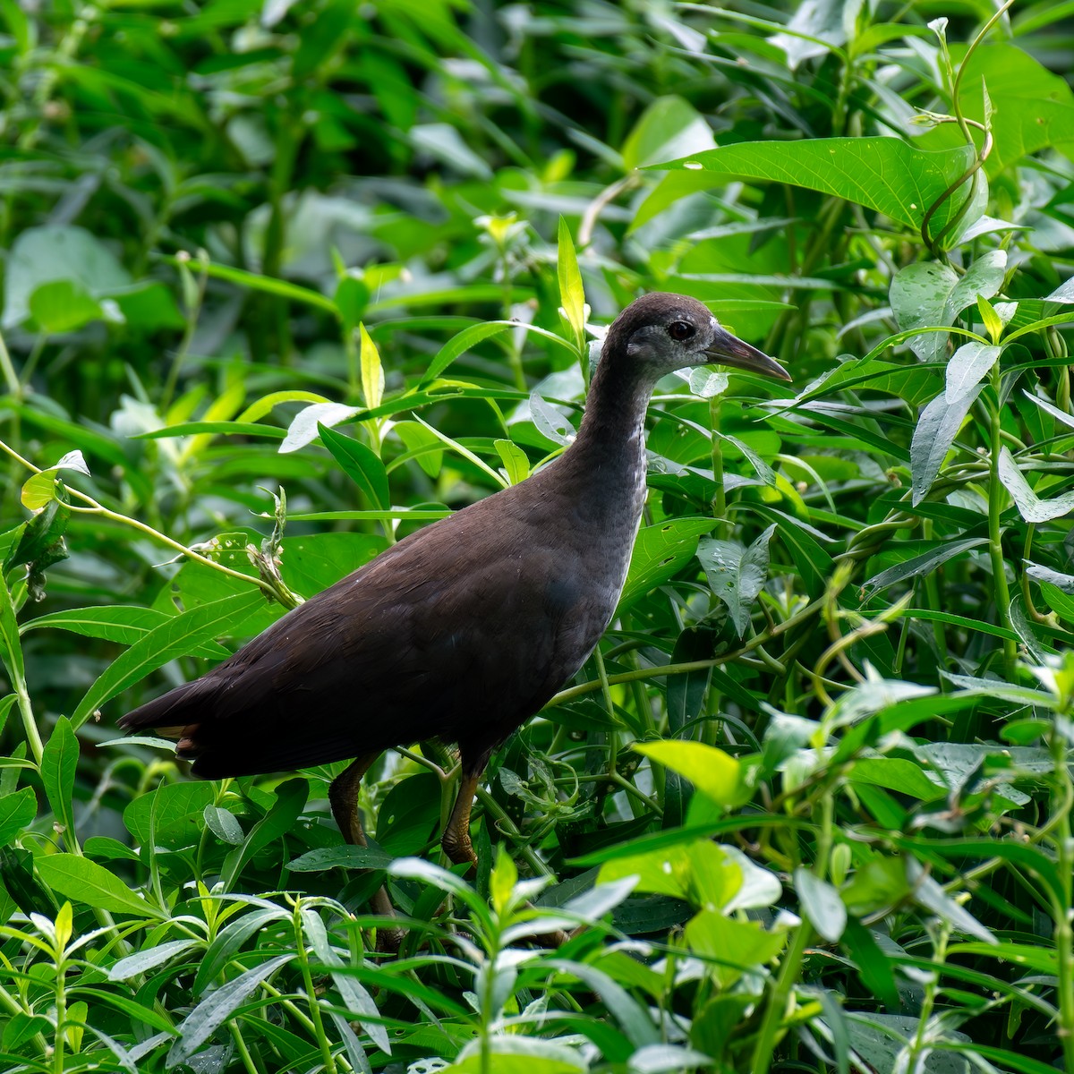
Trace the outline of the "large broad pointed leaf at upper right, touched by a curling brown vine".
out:
M 876 209 L 918 231 L 926 212 L 972 159 L 968 146 L 933 153 L 896 137 L 832 137 L 739 142 L 652 166 L 806 187 Z M 934 214 L 934 230 L 958 211 L 966 189 Z

